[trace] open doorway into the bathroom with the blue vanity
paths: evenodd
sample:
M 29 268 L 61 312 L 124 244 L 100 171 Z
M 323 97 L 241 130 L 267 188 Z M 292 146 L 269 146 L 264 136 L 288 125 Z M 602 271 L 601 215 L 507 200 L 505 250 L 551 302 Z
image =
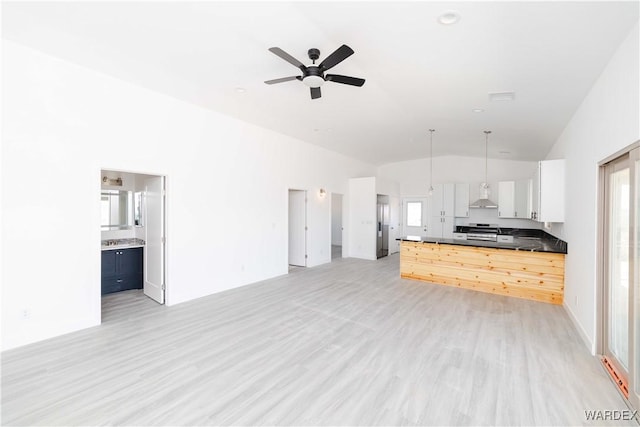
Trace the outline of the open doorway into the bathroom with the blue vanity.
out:
M 165 177 L 103 169 L 100 179 L 103 318 L 131 299 L 164 304 Z

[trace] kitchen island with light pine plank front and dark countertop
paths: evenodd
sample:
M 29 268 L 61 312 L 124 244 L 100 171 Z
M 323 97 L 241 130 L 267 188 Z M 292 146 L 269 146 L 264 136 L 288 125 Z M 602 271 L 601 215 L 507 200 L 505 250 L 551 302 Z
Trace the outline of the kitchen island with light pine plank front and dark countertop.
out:
M 562 304 L 567 244 L 546 233 L 512 242 L 404 237 L 400 275 L 447 286 Z

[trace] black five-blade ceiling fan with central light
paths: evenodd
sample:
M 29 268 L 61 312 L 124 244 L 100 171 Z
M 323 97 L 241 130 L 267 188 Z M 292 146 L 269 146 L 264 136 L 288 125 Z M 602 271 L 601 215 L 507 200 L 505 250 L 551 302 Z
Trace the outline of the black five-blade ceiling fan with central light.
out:
M 309 59 L 313 61 L 312 65 L 306 66 L 302 62 L 298 61 L 293 56 L 289 55 L 284 50 L 279 47 L 272 47 L 269 51 L 278 55 L 280 58 L 284 59 L 288 63 L 295 65 L 300 68 L 302 71 L 301 76 L 291 76 L 291 77 L 283 77 L 280 79 L 267 80 L 265 83 L 268 85 L 272 85 L 275 83 L 288 82 L 290 80 L 300 80 L 305 85 L 311 88 L 311 99 L 320 98 L 320 86 L 324 82 L 335 82 L 342 83 L 345 85 L 351 86 L 362 86 L 364 84 L 364 79 L 360 79 L 358 77 L 349 77 L 349 76 L 341 76 L 340 74 L 325 74 L 324 72 L 329 70 L 330 68 L 335 67 L 351 55 L 353 55 L 353 49 L 351 49 L 346 44 L 343 44 L 335 52 L 331 55 L 327 56 L 324 61 L 320 64 L 316 65 L 316 60 L 320 58 L 320 51 L 318 49 L 309 49 L 308 55 Z

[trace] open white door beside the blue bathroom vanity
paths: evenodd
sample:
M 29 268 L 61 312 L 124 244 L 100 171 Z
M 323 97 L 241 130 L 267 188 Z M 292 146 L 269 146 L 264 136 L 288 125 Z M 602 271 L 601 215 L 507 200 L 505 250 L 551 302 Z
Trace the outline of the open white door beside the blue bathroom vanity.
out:
M 148 178 L 145 185 L 144 293 L 164 304 L 164 177 Z

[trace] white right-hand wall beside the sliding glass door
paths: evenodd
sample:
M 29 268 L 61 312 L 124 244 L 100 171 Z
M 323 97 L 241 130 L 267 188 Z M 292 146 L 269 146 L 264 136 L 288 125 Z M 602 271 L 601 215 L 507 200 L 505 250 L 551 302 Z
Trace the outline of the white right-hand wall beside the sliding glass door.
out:
M 640 139 L 640 34 L 620 45 L 548 159 L 566 159 L 564 224 L 551 232 L 568 242 L 565 307 L 595 352 L 598 162 Z

